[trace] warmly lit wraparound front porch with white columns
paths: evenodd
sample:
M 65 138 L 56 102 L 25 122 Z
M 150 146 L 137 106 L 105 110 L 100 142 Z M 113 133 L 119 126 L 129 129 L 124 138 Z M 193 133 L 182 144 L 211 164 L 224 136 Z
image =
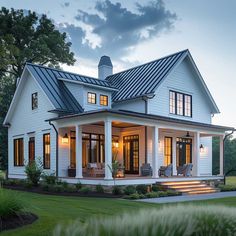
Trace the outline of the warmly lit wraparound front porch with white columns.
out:
M 124 176 L 116 184 L 152 184 L 174 179 L 222 179 L 223 137 L 219 129 L 117 114 L 88 114 L 79 119 L 59 119 L 58 177 L 70 183 L 113 185 L 109 166 L 116 159 L 124 167 Z M 220 137 L 220 173 L 212 176 L 212 136 Z M 88 165 L 102 166 L 99 174 L 88 173 Z M 141 166 L 149 163 L 151 176 L 141 175 Z M 190 177 L 177 176 L 177 168 L 193 164 Z M 171 177 L 158 175 L 161 166 L 172 164 Z M 74 176 L 68 176 L 68 170 Z

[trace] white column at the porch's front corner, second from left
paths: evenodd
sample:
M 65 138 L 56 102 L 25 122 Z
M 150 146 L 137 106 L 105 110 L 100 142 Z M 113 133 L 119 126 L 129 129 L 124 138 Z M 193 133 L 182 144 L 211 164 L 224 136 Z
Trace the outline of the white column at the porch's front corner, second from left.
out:
M 104 121 L 105 133 L 105 178 L 106 180 L 113 179 L 112 173 L 108 166 L 112 166 L 112 122 L 111 120 Z

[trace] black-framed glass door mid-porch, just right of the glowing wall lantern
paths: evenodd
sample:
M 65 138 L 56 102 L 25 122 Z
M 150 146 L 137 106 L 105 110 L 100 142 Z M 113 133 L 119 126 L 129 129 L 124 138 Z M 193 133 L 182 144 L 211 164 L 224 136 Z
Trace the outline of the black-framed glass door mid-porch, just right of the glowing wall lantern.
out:
M 125 173 L 139 174 L 139 136 L 125 136 L 123 145 Z

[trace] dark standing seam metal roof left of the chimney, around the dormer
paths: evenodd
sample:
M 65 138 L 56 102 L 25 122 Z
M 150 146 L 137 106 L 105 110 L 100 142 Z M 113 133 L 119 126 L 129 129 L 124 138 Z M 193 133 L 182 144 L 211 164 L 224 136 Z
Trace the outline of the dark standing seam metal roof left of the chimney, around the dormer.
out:
M 83 112 L 83 108 L 71 94 L 71 92 L 61 79 L 82 82 L 88 85 L 114 88 L 108 81 L 82 76 L 70 72 L 64 72 L 62 70 L 57 70 L 31 63 L 27 63 L 26 66 L 38 81 L 44 92 L 47 94 L 48 98 L 54 105 L 55 110 L 57 111 L 64 111 L 69 113 Z

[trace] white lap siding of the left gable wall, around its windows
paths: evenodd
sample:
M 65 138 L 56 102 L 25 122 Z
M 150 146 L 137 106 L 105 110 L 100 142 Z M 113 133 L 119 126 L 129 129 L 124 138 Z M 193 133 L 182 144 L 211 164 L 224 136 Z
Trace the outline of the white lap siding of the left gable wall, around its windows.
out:
M 38 93 L 38 108 L 32 110 L 31 95 Z M 25 167 L 14 166 L 14 148 L 13 140 L 24 138 L 24 162 L 28 162 L 28 141 L 30 137 L 35 137 L 35 156 L 42 160 L 43 157 L 43 134 L 51 135 L 51 168 L 49 171 L 55 171 L 56 162 L 56 134 L 52 126 L 45 122 L 46 119 L 55 117 L 55 114 L 49 113 L 53 107 L 41 88 L 35 80 L 28 75 L 20 98 L 14 108 L 12 118 L 10 119 L 10 128 L 8 129 L 8 171 L 9 177 L 24 178 Z M 42 160 L 43 161 L 43 160 Z

